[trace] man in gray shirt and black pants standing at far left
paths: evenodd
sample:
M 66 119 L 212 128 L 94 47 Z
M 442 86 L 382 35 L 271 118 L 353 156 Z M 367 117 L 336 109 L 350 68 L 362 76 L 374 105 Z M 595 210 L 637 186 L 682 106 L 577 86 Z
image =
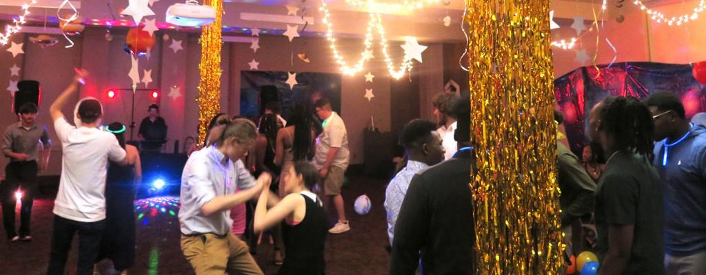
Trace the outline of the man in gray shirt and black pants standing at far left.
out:
M 5 167 L 5 182 L 1 184 L 3 225 L 10 241 L 32 241 L 30 236 L 30 216 L 32 203 L 37 193 L 37 172 L 44 170 L 49 161 L 49 147 L 52 142 L 47 127 L 37 127 L 37 105 L 25 103 L 19 108 L 20 122 L 13 123 L 5 130 L 2 153 L 10 158 Z M 38 144 L 42 143 L 42 150 Z M 37 161 L 39 164 L 37 164 Z M 20 208 L 20 235 L 15 231 L 15 191 L 22 192 Z

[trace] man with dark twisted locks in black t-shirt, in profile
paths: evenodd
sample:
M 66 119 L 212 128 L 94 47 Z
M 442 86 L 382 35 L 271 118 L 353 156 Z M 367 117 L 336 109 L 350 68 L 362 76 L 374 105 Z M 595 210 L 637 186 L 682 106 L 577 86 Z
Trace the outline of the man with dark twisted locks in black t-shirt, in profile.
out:
M 637 98 L 606 98 L 589 134 L 610 157 L 596 190 L 598 274 L 664 274 L 664 204 L 652 166 L 654 125 Z

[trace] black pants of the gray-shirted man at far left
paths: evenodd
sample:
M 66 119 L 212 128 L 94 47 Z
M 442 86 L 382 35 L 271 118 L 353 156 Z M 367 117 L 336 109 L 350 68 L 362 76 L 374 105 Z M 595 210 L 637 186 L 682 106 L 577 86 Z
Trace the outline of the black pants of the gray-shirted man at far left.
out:
M 15 231 L 15 205 L 17 188 L 22 191 L 22 207 L 20 207 L 20 236 L 30 234 L 30 217 L 32 203 L 37 193 L 37 162 L 13 161 L 5 167 L 6 179 L 1 186 L 2 221 L 7 238 L 17 236 Z

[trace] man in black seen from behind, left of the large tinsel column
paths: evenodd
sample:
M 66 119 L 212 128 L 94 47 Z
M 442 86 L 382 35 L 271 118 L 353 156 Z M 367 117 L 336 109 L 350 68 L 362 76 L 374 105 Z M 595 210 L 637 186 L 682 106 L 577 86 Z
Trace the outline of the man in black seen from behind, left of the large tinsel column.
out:
M 453 109 L 459 149 L 412 178 L 395 223 L 390 274 L 414 274 L 420 252 L 424 274 L 475 274 L 470 102 L 457 100 Z

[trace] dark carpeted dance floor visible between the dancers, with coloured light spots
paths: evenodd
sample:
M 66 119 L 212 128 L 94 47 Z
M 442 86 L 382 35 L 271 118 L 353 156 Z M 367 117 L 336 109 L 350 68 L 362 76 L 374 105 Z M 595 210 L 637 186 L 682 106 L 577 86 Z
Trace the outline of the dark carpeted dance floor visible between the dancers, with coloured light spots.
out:
M 344 234 L 330 234 L 326 239 L 326 274 L 387 274 L 390 256 L 385 250 L 387 234 L 383 208 L 386 184 L 380 179 L 350 178 L 343 194 L 352 229 Z M 361 194 L 367 194 L 373 203 L 368 215 L 357 215 L 353 210 L 354 199 Z M 44 195 L 35 200 L 32 215 L 34 241 L 9 243 L 1 231 L 0 274 L 44 274 L 51 245 L 53 196 Z M 137 201 L 137 257 L 128 274 L 193 274 L 179 248 L 177 199 L 162 197 Z M 68 274 L 76 272 L 76 239 L 66 266 Z M 277 274 L 272 261 L 272 245 L 265 238 L 257 252 L 256 260 L 265 274 Z M 109 263 L 101 262 L 98 267 L 100 274 L 111 274 Z

